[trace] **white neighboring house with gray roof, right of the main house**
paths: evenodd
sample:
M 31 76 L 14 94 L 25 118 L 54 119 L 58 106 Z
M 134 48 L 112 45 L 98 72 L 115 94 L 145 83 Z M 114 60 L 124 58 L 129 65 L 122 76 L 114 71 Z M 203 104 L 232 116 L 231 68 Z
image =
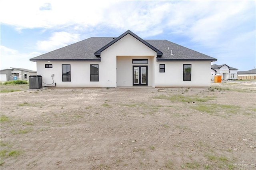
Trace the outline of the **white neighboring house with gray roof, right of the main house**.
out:
M 236 80 L 237 70 L 238 69 L 229 67 L 226 64 L 213 64 L 211 65 L 211 80 L 214 80 L 215 75 L 221 75 L 222 80 Z

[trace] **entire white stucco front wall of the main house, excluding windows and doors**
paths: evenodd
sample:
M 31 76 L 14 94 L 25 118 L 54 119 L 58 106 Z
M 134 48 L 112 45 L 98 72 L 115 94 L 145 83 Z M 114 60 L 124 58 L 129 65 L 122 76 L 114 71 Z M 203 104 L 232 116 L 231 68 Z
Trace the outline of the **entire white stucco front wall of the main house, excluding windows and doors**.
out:
M 133 64 L 132 59 L 148 59 L 148 64 Z M 133 65 L 148 66 L 148 86 L 209 87 L 210 61 L 156 61 L 156 52 L 127 34 L 101 52 L 101 61 L 38 61 L 37 75 L 43 86 L 56 87 L 127 87 L 133 85 Z M 45 68 L 52 64 L 52 68 Z M 62 81 L 62 64 L 70 64 L 71 81 Z M 99 81 L 90 81 L 90 64 L 99 65 Z M 165 73 L 159 65 L 165 64 Z M 183 64 L 191 64 L 191 81 L 183 81 Z M 52 81 L 54 74 L 54 82 Z M 50 85 L 52 84 L 52 85 Z

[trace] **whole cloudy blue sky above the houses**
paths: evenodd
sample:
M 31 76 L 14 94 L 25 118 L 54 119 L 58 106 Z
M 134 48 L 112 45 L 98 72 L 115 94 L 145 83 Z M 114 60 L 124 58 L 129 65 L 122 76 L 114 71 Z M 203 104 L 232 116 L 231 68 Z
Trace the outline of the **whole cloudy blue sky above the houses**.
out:
M 256 2 L 2 0 L 0 69 L 36 70 L 30 58 L 127 30 L 168 40 L 245 71 L 256 66 Z

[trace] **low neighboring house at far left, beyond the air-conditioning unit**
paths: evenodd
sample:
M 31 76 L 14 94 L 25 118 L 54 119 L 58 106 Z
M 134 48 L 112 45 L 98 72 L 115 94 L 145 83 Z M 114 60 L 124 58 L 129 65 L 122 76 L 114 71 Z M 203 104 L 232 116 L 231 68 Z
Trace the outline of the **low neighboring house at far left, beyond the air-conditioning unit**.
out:
M 17 77 L 17 80 L 28 80 L 30 75 L 36 75 L 36 71 L 29 69 L 13 68 L 0 70 L 1 81 L 11 80 L 11 76 L 14 75 Z

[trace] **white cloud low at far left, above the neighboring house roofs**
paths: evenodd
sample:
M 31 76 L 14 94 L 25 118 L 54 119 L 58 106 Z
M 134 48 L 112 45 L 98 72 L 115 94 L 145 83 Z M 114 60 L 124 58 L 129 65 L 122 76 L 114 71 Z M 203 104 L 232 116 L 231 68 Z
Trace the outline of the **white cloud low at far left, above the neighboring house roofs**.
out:
M 36 70 L 36 62 L 29 61 L 30 58 L 41 55 L 38 52 L 20 53 L 15 49 L 0 45 L 1 65 L 0 69 L 10 69 L 10 67 Z

